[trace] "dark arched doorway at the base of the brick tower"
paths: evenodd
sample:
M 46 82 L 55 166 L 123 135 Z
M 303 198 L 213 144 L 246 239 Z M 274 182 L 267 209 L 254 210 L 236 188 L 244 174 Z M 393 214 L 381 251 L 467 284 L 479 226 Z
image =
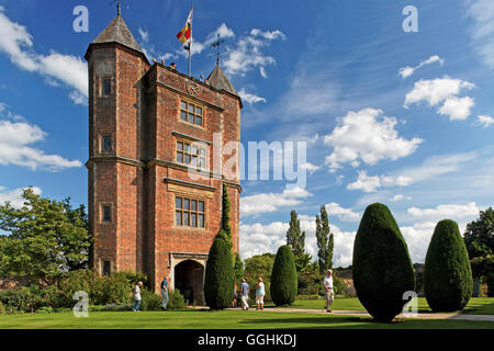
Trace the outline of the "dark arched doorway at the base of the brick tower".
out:
M 182 293 L 186 304 L 203 305 L 204 267 L 197 261 L 186 260 L 175 267 L 173 286 Z

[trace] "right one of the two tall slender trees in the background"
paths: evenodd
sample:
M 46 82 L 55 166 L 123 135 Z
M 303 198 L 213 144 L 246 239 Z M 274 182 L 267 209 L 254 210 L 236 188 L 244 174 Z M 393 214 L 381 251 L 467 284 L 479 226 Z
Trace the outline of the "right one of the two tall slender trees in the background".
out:
M 325 273 L 328 269 L 333 268 L 335 237 L 329 231 L 329 220 L 324 205 L 321 206 L 321 217 L 318 215 L 316 216 L 316 239 L 319 272 Z

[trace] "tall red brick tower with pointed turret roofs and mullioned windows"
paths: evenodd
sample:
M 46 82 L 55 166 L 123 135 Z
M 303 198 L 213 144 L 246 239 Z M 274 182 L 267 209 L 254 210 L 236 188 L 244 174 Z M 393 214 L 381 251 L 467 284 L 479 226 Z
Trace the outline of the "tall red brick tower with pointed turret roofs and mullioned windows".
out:
M 202 303 L 223 183 L 238 252 L 239 152 L 222 149 L 239 143 L 242 101 L 220 66 L 206 83 L 150 66 L 120 15 L 86 59 L 94 267 L 101 274 L 146 272 L 156 291 L 169 276 L 172 287 Z M 234 177 L 226 173 L 232 163 Z

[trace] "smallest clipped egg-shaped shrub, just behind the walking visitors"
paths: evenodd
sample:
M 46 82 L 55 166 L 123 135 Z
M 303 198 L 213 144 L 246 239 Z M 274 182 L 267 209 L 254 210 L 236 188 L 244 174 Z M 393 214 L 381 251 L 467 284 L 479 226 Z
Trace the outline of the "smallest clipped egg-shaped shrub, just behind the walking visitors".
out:
M 278 249 L 271 273 L 271 298 L 277 306 L 291 305 L 295 301 L 297 276 L 292 249 L 283 245 Z

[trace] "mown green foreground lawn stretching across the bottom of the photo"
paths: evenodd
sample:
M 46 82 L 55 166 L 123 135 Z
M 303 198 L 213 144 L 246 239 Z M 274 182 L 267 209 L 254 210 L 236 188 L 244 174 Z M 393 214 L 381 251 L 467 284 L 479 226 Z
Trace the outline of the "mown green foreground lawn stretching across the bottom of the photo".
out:
M 367 317 L 317 315 L 303 313 L 243 310 L 180 310 L 180 312 L 99 312 L 88 318 L 70 313 L 25 314 L 0 316 L 0 328 L 8 329 L 492 329 L 494 322 L 464 320 L 398 320 L 378 324 Z

